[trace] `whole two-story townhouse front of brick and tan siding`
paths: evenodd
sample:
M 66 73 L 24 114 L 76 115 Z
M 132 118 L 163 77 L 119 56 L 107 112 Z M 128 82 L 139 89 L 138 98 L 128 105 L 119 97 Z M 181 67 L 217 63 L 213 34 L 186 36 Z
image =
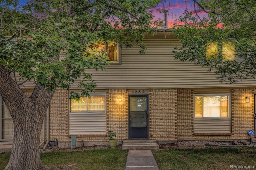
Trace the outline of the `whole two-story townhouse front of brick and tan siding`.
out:
M 70 147 L 72 134 L 78 145 L 106 144 L 113 130 L 118 141 L 126 139 L 249 140 L 255 130 L 256 81 L 220 83 L 207 68 L 175 60 L 180 42 L 172 32 L 146 35 L 146 53 L 139 47 L 113 48 L 108 71 L 89 69 L 95 93 L 69 99 L 69 91 L 57 89 L 42 128 L 42 142 L 58 139 Z M 31 93 L 33 82 L 24 84 Z M 72 90 L 79 92 L 75 85 Z M 0 101 L 1 141 L 12 140 L 12 119 Z M 253 136 L 254 137 L 254 136 Z

